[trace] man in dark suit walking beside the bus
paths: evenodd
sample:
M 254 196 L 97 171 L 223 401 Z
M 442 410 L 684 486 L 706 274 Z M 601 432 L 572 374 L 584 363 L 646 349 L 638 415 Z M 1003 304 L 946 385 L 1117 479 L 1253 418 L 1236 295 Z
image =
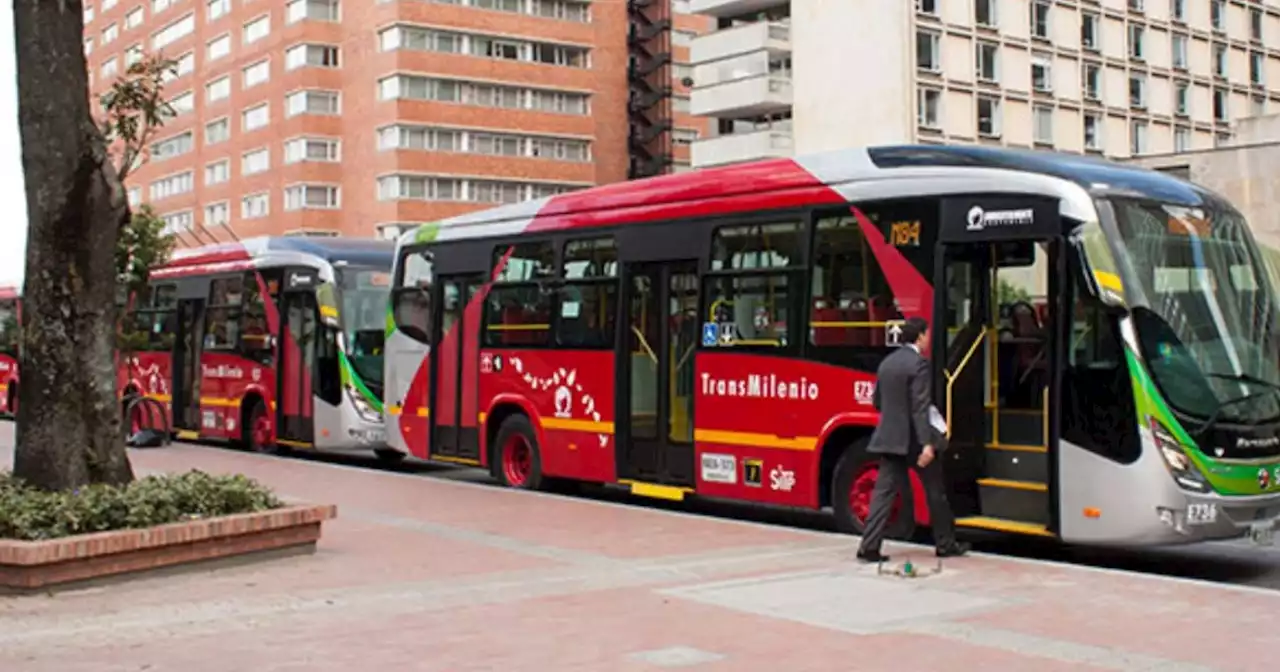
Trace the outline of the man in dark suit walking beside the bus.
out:
M 932 376 L 924 351 L 929 347 L 929 324 L 910 317 L 902 325 L 902 346 L 884 358 L 876 371 L 876 393 L 872 403 L 879 411 L 879 424 L 872 434 L 867 452 L 879 456 L 879 475 L 872 493 L 867 529 L 858 549 L 863 562 L 886 562 L 881 543 L 890 522 L 893 499 L 910 495 L 910 465 L 919 467 L 920 481 L 929 502 L 929 520 L 940 558 L 964 556 L 968 544 L 956 541 L 955 516 L 947 503 L 942 462 L 946 436 L 931 421 Z M 936 411 L 933 411 L 936 412 Z

